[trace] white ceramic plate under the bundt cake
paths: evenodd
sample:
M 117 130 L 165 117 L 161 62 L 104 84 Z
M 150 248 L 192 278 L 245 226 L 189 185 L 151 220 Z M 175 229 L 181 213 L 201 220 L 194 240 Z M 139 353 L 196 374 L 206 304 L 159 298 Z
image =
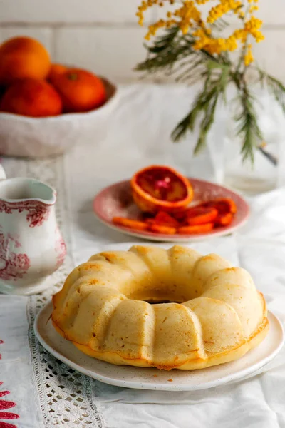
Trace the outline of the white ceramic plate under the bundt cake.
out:
M 281 323 L 269 312 L 268 335 L 258 347 L 247 352 L 237 361 L 203 370 L 170 370 L 169 372 L 155 368 L 117 366 L 88 357 L 71 342 L 63 339 L 49 320 L 51 311 L 52 303 L 49 302 L 36 317 L 34 329 L 43 347 L 78 372 L 118 387 L 161 391 L 192 391 L 217 387 L 257 372 L 273 360 L 284 343 Z

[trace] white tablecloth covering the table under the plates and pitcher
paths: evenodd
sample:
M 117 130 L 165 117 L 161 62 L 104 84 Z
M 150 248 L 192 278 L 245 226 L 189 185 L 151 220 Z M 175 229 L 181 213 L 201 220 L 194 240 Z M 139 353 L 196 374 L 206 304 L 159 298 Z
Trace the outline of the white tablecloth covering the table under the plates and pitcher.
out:
M 33 176 L 58 190 L 58 222 L 68 258 L 42 295 L 0 296 L 0 428 L 285 427 L 285 350 L 266 372 L 237 384 L 197 392 L 155 392 L 112 387 L 74 372 L 43 350 L 33 335 L 38 308 L 61 287 L 74 265 L 103 245 L 130 242 L 95 219 L 92 200 L 100 188 L 150 163 L 214 178 L 207 151 L 191 159 L 193 139 L 180 145 L 170 142 L 170 131 L 191 99 L 192 92 L 180 87 L 120 88 L 117 108 L 93 141 L 82 141 L 62 158 L 4 159 L 9 177 Z M 249 202 L 252 215 L 239 233 L 203 245 L 249 270 L 269 309 L 285 325 L 285 189 Z

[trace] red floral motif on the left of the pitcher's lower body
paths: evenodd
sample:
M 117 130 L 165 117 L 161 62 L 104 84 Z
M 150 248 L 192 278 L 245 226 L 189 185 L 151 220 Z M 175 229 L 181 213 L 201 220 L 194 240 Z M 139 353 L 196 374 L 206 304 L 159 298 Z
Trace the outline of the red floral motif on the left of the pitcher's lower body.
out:
M 14 239 L 0 233 L 0 278 L 2 280 L 18 280 L 22 278 L 30 267 L 30 259 L 24 253 L 16 254 L 9 251 L 9 242 Z M 19 242 L 16 241 L 16 246 Z M 21 245 L 21 244 L 20 244 Z M 1 426 L 0 426 L 1 428 Z

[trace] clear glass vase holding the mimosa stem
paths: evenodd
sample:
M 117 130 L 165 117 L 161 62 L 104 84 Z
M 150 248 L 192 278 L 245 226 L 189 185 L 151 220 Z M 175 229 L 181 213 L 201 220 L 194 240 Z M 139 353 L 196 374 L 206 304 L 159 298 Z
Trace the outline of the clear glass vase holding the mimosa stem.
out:
M 258 121 L 266 143 L 254 150 L 254 163 L 243 161 L 242 138 L 237 136 L 230 109 L 219 111 L 207 140 L 214 180 L 244 195 L 257 195 L 285 185 L 285 119 L 276 104 L 268 97 L 265 99 L 260 99 Z

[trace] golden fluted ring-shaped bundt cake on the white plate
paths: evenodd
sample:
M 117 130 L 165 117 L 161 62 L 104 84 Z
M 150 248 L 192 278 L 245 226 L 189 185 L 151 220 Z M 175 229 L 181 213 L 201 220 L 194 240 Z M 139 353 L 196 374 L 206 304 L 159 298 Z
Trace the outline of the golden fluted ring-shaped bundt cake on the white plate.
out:
M 52 322 L 99 360 L 166 370 L 236 360 L 269 327 L 246 270 L 178 245 L 93 255 L 53 296 Z

